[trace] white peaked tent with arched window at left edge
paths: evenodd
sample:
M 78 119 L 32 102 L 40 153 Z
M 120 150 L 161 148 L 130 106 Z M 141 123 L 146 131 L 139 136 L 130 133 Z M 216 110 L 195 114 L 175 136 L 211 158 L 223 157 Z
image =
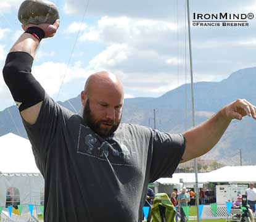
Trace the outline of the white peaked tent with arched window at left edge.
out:
M 10 187 L 19 190 L 20 204 L 41 204 L 44 179 L 36 167 L 28 139 L 9 133 L 0 137 L 0 207 Z

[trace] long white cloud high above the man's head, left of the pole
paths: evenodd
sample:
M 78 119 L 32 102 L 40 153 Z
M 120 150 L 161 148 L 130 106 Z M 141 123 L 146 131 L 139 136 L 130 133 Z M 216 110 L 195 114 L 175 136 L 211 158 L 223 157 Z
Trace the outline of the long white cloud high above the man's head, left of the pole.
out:
M 80 40 L 88 40 L 88 36 L 93 35 L 96 36 L 96 40 L 106 44 L 126 43 L 130 46 L 143 47 L 152 43 L 168 44 L 173 36 L 176 37 L 176 31 L 176 24 L 171 22 L 105 16 L 97 22 L 96 27 L 89 27 L 89 31 L 83 33 Z

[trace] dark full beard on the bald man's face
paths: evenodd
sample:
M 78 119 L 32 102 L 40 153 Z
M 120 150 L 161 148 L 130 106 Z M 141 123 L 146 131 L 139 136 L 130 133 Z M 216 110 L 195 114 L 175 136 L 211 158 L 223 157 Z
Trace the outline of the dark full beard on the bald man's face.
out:
M 83 119 L 85 120 L 86 125 L 91 128 L 91 130 L 94 131 L 94 133 L 97 133 L 99 136 L 110 136 L 112 135 L 120 125 L 120 120 L 96 120 L 93 116 L 93 113 L 91 112 L 91 109 L 89 108 L 89 99 L 87 100 L 85 104 L 85 108 L 83 109 Z M 108 123 L 112 124 L 111 128 L 101 128 L 102 123 Z

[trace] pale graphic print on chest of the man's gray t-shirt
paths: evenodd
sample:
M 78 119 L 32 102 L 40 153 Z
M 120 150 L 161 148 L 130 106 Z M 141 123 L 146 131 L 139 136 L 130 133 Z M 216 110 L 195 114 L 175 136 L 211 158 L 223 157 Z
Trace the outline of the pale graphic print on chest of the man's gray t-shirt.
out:
M 113 165 L 131 163 L 131 152 L 123 143 L 124 141 L 126 140 L 118 139 L 117 142 L 112 137 L 103 139 L 95 134 L 88 126 L 81 124 L 76 152 L 78 154 L 98 158 L 99 160 L 114 160 L 115 163 L 111 162 Z M 109 156 L 110 154 L 111 157 Z

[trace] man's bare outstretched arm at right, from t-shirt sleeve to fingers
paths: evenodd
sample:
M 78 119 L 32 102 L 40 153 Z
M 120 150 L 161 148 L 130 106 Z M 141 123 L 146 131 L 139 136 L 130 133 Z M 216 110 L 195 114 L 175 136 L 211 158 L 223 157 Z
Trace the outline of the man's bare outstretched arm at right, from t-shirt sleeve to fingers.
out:
M 212 149 L 220 140 L 234 118 L 241 120 L 248 115 L 256 119 L 256 107 L 245 99 L 237 99 L 223 107 L 212 118 L 184 133 L 186 149 L 181 162 L 200 157 Z

